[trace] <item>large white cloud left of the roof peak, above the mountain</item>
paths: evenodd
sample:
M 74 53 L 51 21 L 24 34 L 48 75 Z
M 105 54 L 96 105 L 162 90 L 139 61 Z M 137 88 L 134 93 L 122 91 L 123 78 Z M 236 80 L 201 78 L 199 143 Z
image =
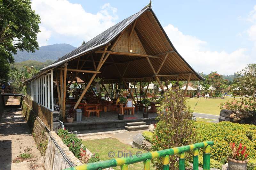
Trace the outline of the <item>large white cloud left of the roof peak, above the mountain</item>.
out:
M 84 11 L 81 4 L 67 0 L 33 0 L 32 9 L 40 15 L 41 33 L 38 42 L 45 45 L 46 36 L 72 37 L 82 42 L 89 41 L 99 33 L 115 24 L 117 9 L 104 4 L 96 14 Z M 77 44 L 76 46 L 79 46 Z

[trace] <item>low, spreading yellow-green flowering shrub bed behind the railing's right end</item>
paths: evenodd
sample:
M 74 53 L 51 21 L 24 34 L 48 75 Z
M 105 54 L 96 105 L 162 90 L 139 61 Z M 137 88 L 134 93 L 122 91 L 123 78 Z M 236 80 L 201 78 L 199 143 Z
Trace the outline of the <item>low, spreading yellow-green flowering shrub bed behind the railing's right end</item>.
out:
M 249 153 L 248 159 L 256 158 L 256 126 L 232 122 L 195 122 L 198 142 L 213 140 L 211 158 L 224 163 L 227 161 L 229 143 L 242 143 Z M 224 160 L 224 161 L 223 161 Z

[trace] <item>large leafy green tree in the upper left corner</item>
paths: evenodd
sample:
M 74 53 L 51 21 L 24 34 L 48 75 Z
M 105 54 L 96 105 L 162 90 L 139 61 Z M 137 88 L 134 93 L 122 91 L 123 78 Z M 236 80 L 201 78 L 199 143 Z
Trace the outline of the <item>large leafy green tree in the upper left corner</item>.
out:
M 7 78 L 13 54 L 35 52 L 40 17 L 31 10 L 30 0 L 0 0 L 0 75 Z M 3 61 L 3 62 L 2 62 Z M 4 69 L 3 69 L 4 68 Z

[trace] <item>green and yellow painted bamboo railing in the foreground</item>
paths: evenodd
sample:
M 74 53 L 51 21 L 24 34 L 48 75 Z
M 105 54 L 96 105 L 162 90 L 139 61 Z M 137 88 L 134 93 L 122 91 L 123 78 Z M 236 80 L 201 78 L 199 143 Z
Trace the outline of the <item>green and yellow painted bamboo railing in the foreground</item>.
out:
M 141 157 L 133 156 L 133 158 L 116 158 L 100 162 L 93 162 L 81 166 L 67 168 L 65 170 L 102 170 L 104 168 L 121 166 L 121 170 L 128 170 L 129 164 L 137 162 L 144 163 L 144 170 L 149 170 L 150 161 L 156 158 L 162 158 L 163 169 L 169 170 L 169 156 L 179 156 L 179 170 L 185 170 L 185 152 L 193 151 L 193 170 L 198 170 L 198 152 L 203 149 L 203 170 L 210 170 L 210 154 L 213 141 L 201 142 L 177 148 L 165 149 L 161 151 L 143 153 Z

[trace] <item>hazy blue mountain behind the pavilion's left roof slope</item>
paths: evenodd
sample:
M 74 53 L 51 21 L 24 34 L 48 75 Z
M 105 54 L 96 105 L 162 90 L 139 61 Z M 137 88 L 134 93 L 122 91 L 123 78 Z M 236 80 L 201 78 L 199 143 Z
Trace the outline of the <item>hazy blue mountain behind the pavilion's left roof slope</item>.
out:
M 45 62 L 46 60 L 55 61 L 63 55 L 73 51 L 76 47 L 70 44 L 53 44 L 48 46 L 41 46 L 35 53 L 27 51 L 18 51 L 14 55 L 15 62 L 22 62 L 27 60 L 34 60 L 39 62 Z

